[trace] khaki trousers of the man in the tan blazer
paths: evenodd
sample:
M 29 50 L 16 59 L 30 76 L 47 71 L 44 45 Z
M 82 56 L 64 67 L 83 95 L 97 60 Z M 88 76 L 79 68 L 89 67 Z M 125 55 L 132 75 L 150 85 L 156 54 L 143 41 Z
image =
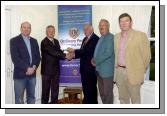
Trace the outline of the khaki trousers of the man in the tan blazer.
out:
M 141 84 L 132 85 L 129 83 L 126 68 L 116 68 L 115 81 L 118 87 L 119 100 L 121 104 L 130 104 L 130 100 L 133 104 L 140 104 Z

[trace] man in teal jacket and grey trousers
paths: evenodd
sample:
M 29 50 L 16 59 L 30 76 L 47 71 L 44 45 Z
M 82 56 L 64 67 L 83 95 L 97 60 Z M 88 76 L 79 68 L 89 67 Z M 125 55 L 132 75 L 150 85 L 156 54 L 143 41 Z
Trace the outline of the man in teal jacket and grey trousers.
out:
M 95 48 L 92 64 L 96 66 L 98 87 L 103 104 L 113 103 L 114 77 L 114 37 L 109 32 L 110 24 L 101 19 L 99 30 L 101 37 Z

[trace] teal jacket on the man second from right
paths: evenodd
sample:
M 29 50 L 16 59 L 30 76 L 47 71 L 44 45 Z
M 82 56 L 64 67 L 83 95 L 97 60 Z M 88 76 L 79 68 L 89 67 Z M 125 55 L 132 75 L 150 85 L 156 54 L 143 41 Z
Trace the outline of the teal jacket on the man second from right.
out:
M 114 36 L 108 33 L 100 37 L 99 42 L 97 45 L 98 53 L 94 55 L 96 71 L 98 71 L 102 78 L 114 77 Z

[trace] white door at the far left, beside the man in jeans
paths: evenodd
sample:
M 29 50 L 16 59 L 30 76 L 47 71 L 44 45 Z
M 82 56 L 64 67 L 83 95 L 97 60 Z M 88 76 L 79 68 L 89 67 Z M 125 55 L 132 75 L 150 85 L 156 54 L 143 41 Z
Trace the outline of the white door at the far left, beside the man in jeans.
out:
M 10 9 L 5 9 L 5 96 L 8 99 L 5 99 L 5 103 L 13 103 L 14 102 L 14 90 L 13 90 L 13 74 L 12 74 L 12 62 L 11 62 L 11 55 L 9 49 L 9 41 L 11 38 L 11 11 Z

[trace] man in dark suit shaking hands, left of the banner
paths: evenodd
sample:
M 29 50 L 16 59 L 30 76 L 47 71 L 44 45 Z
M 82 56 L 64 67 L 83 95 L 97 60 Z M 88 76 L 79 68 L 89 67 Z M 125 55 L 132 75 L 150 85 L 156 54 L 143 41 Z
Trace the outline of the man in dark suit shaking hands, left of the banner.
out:
M 48 104 L 51 89 L 51 104 L 58 102 L 59 94 L 59 74 L 61 59 L 71 59 L 69 54 L 63 53 L 58 40 L 54 39 L 55 28 L 47 26 L 46 35 L 41 42 L 41 74 L 42 74 L 42 104 Z

